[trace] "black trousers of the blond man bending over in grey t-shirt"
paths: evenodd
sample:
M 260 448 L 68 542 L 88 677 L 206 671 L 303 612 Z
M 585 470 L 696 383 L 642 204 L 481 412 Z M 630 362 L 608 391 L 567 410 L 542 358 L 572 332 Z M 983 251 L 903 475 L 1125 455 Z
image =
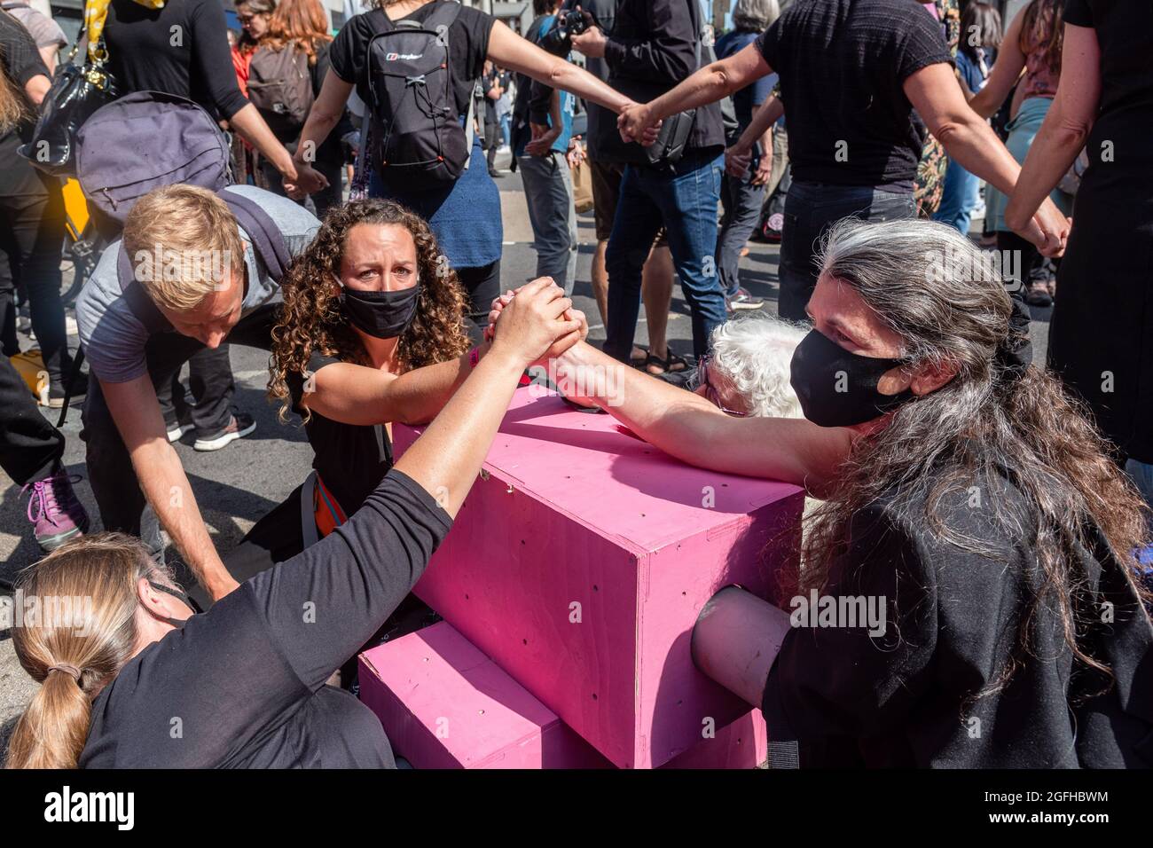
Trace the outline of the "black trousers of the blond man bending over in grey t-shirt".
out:
M 228 333 L 229 344 L 271 350 L 272 328 L 279 309 L 278 301 L 254 309 Z M 152 387 L 171 387 L 180 367 L 204 350 L 201 342 L 178 332 L 152 336 L 144 348 Z M 128 448 L 120 437 L 95 374 L 89 376 L 82 421 L 84 429 L 81 438 L 85 443 L 89 481 L 104 528 L 137 535 L 153 554 L 159 553 L 163 549 L 159 521 L 148 506 Z

